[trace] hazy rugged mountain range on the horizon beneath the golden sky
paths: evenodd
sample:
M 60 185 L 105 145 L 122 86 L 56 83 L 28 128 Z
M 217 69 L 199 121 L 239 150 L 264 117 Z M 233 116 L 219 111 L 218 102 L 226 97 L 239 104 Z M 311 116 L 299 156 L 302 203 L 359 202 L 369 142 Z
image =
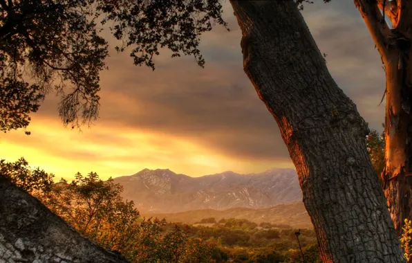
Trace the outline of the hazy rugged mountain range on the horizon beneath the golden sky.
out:
M 133 200 L 141 212 L 260 209 L 302 200 L 293 169 L 275 168 L 259 174 L 227 171 L 200 177 L 176 174 L 169 169 L 144 169 L 114 181 L 123 185 L 124 199 Z

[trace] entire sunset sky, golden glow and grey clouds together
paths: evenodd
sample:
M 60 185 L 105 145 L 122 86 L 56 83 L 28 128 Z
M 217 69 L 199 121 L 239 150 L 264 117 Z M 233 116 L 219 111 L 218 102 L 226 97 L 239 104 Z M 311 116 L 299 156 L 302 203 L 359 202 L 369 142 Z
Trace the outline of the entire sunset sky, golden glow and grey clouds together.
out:
M 384 71 L 353 1 L 317 0 L 303 16 L 339 87 L 381 131 Z M 59 98 L 50 94 L 32 116 L 30 136 L 21 130 L 0 135 L 0 158 L 24 156 L 57 179 L 91 171 L 107 179 L 145 167 L 189 176 L 293 167 L 277 124 L 243 72 L 241 31 L 229 1 L 224 17 L 230 33 L 216 26 L 202 37 L 205 69 L 193 57 L 172 59 L 164 50 L 151 71 L 111 46 L 95 125 L 82 132 L 64 128 Z

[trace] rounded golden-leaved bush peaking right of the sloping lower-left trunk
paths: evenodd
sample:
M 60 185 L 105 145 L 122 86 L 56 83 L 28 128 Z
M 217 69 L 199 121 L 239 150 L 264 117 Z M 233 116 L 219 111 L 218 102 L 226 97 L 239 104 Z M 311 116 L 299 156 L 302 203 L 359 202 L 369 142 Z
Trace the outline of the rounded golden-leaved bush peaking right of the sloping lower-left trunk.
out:
M 133 201 L 123 201 L 120 184 L 102 181 L 95 172 L 80 173 L 68 183 L 62 179 L 37 198 L 81 235 L 113 251 L 125 251 L 139 233 L 140 214 Z

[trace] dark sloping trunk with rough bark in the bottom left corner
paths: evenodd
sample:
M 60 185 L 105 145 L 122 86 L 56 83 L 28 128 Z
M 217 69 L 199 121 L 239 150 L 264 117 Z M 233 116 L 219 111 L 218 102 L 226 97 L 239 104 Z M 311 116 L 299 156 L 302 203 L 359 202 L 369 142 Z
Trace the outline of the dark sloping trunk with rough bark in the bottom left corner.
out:
M 122 263 L 0 174 L 0 262 Z

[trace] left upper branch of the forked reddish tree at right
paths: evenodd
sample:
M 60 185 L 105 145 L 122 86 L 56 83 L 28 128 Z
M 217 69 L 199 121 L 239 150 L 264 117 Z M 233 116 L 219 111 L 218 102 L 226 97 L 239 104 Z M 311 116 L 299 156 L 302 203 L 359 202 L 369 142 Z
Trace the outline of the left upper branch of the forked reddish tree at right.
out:
M 391 33 L 386 21 L 383 20 L 382 14 L 377 3 L 371 3 L 368 0 L 354 0 L 355 6 L 362 15 L 366 26 L 375 42 L 384 64 L 388 63 L 389 51 L 386 47 L 388 36 Z

